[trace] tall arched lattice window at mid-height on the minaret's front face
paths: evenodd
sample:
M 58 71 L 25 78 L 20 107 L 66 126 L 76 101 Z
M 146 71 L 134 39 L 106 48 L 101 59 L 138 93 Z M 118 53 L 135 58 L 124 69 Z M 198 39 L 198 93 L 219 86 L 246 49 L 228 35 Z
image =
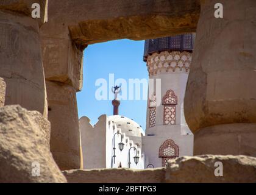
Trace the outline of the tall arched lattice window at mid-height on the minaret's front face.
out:
M 168 90 L 163 96 L 163 124 L 174 125 L 176 124 L 176 105 L 178 98 L 174 91 Z

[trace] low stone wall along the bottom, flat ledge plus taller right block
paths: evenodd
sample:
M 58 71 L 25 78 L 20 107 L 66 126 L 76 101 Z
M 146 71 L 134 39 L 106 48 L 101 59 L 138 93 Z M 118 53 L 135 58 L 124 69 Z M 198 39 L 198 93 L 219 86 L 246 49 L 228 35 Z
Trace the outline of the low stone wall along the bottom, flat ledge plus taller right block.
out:
M 222 162 L 223 176 L 215 176 L 215 163 Z M 63 171 L 69 183 L 179 183 L 179 182 L 256 182 L 256 158 L 232 155 L 179 157 L 168 161 L 168 168 L 91 169 Z

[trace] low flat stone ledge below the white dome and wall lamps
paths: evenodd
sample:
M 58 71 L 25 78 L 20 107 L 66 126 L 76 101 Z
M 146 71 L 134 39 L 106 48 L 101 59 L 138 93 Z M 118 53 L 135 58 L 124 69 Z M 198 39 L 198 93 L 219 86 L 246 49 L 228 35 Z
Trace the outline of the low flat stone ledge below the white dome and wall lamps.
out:
M 91 169 L 63 171 L 69 183 L 160 183 L 165 182 L 165 168 Z

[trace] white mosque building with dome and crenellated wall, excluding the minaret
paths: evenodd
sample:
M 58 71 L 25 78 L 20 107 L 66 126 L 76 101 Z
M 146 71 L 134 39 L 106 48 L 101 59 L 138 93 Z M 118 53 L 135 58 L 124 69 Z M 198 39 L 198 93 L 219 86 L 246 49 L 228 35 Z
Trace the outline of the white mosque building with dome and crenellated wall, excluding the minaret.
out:
M 101 115 L 93 126 L 86 116 L 79 119 L 83 168 L 144 169 L 140 125 L 121 115 Z

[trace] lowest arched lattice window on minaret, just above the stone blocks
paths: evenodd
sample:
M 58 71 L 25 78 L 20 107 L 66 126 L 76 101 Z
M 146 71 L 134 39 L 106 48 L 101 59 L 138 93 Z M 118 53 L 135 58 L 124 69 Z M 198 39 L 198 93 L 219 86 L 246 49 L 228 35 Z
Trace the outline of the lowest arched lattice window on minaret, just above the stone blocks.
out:
M 162 158 L 162 166 L 167 166 L 167 161 L 171 158 L 179 157 L 179 146 L 173 140 L 166 140 L 159 148 L 159 158 Z

